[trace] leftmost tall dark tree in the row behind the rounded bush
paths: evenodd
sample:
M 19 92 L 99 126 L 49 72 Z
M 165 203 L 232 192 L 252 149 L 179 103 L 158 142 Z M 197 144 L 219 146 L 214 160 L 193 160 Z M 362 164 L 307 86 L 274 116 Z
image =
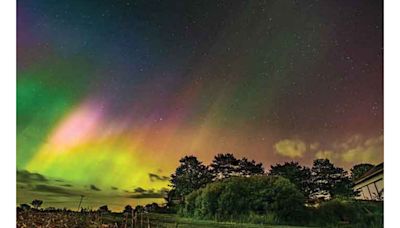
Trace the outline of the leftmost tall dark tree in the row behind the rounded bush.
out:
M 185 156 L 179 162 L 179 167 L 171 175 L 171 186 L 176 196 L 183 200 L 183 196 L 210 183 L 212 175 L 194 156 Z

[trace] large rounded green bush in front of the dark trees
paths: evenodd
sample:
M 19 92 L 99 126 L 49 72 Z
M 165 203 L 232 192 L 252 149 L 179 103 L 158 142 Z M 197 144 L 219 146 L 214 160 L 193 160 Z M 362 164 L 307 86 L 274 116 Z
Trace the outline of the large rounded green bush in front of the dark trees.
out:
M 304 197 L 278 176 L 232 177 L 186 196 L 184 216 L 255 223 L 304 221 Z

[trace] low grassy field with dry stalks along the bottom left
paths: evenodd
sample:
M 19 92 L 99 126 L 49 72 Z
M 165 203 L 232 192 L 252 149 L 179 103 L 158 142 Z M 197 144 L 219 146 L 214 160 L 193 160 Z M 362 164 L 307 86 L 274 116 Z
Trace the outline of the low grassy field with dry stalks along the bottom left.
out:
M 137 216 L 132 226 L 131 217 L 125 217 L 122 213 L 78 213 L 78 212 L 46 212 L 46 211 L 23 211 L 17 214 L 17 227 L 294 227 L 294 226 L 271 226 L 255 224 L 239 224 L 229 222 L 215 222 L 181 218 L 175 214 L 144 213 Z

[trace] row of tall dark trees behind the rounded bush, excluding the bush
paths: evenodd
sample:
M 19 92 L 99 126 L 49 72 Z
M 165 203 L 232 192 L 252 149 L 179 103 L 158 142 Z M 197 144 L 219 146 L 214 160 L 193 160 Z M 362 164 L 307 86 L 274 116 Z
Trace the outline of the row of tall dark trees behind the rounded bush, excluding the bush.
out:
M 185 196 L 205 187 L 207 184 L 230 177 L 256 175 L 281 176 L 293 183 L 308 202 L 316 199 L 354 197 L 358 192 L 352 188 L 353 181 L 371 169 L 371 164 L 355 165 L 350 173 L 335 166 L 328 159 L 316 159 L 312 167 L 301 166 L 298 162 L 272 165 L 265 172 L 262 163 L 236 158 L 233 154 L 217 154 L 210 165 L 204 165 L 195 156 L 185 156 L 171 175 L 171 190 L 166 197 L 167 205 L 183 203 Z

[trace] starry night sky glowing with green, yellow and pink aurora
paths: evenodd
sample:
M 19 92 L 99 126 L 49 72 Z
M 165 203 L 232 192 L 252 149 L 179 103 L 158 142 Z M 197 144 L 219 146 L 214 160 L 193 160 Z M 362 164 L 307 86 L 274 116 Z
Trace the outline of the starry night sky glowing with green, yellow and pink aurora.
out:
M 19 0 L 17 201 L 151 199 L 187 154 L 382 162 L 382 4 Z

